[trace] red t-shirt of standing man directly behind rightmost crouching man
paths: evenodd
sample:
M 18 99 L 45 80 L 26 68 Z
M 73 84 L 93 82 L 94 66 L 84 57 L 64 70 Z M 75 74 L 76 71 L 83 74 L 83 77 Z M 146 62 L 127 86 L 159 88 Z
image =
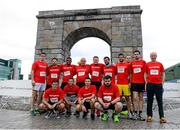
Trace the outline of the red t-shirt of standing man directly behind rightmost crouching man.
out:
M 115 84 L 115 75 L 116 75 L 116 67 L 113 65 L 110 66 L 104 66 L 103 69 L 104 76 L 109 75 L 112 77 L 112 84 Z

